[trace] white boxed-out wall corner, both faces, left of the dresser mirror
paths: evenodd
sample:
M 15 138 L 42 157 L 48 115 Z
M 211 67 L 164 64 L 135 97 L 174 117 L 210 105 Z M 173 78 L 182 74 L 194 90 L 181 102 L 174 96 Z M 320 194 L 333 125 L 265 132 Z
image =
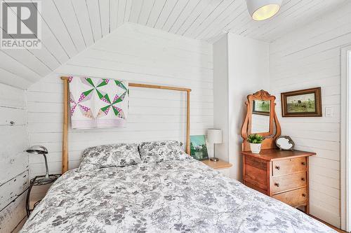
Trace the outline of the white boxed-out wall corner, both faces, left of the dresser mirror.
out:
M 246 114 L 245 101 L 248 94 L 261 89 L 269 91 L 269 44 L 229 33 L 213 45 L 213 64 L 214 125 L 223 127 L 227 136 L 216 151 L 222 153 L 220 158 L 233 164 L 230 177 L 241 181 L 240 130 Z

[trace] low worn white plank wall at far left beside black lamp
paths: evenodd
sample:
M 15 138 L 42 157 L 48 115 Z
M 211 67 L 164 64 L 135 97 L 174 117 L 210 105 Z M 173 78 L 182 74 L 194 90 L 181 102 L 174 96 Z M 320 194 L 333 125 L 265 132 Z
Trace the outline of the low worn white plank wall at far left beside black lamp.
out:
M 22 227 L 26 216 L 27 114 L 25 91 L 4 84 L 0 84 L 0 148 L 0 232 L 11 232 Z

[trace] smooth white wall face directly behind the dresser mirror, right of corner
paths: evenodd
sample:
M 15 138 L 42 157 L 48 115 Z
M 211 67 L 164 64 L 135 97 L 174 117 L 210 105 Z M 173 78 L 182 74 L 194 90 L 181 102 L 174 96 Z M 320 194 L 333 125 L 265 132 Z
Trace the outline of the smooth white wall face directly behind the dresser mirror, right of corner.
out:
M 229 154 L 234 164 L 230 176 L 241 181 L 241 125 L 246 115 L 248 94 L 270 87 L 269 44 L 228 34 L 229 66 Z

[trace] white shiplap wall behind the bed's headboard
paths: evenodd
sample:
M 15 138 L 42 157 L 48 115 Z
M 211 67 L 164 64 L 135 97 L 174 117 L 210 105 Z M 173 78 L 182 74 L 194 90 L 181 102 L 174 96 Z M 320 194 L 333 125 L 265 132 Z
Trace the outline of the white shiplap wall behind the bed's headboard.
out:
M 134 83 L 190 87 L 191 134 L 213 127 L 212 45 L 126 23 L 35 83 L 27 92 L 29 143 L 42 144 L 51 173 L 60 172 L 62 80 L 77 75 Z M 88 146 L 125 141 L 185 139 L 186 97 L 180 92 L 131 88 L 125 128 L 70 130 L 70 168 Z M 210 150 L 211 151 L 211 150 Z M 30 176 L 43 174 L 41 157 L 29 156 Z

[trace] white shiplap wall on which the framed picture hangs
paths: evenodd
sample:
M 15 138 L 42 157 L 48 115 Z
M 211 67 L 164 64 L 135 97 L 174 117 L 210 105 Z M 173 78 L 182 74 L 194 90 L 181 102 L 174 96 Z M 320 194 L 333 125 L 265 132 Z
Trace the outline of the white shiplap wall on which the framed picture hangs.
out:
M 283 134 L 310 158 L 311 214 L 338 226 L 340 218 L 340 48 L 351 43 L 351 3 L 270 44 L 270 89 Z M 333 117 L 281 118 L 280 93 L 322 87 L 323 112 Z

